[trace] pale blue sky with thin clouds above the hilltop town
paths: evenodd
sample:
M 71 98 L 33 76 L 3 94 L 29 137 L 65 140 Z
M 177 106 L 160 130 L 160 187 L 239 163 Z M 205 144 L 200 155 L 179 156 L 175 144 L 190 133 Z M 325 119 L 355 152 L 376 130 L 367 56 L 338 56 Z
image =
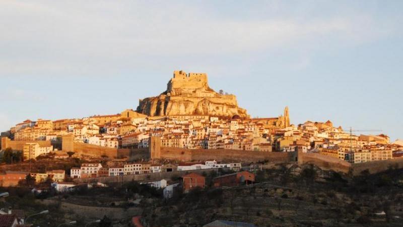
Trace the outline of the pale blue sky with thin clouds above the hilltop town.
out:
M 136 109 L 174 70 L 252 117 L 403 139 L 403 1 L 0 2 L 0 131 Z M 370 132 L 357 132 L 369 134 Z M 372 134 L 378 132 L 371 132 Z

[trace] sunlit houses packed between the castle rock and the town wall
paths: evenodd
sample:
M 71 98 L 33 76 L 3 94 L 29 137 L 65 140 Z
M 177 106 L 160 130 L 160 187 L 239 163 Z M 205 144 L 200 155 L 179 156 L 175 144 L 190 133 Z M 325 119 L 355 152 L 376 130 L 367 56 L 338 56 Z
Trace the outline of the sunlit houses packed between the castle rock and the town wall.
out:
M 148 117 L 131 109 L 117 115 L 57 121 L 25 121 L 11 129 L 15 140 L 56 140 L 73 135 L 75 142 L 113 148 L 145 148 L 150 136 L 161 146 L 188 149 L 234 149 L 263 152 L 318 152 L 353 163 L 401 156 L 403 142 L 380 135 L 353 135 L 330 121 L 292 125 L 288 108 L 278 118 L 219 118 L 204 115 Z M 46 154 L 52 147 L 24 146 L 26 158 Z M 134 172 L 140 171 L 139 166 Z M 119 169 L 124 167 L 118 166 Z M 115 174 L 116 175 L 116 174 Z

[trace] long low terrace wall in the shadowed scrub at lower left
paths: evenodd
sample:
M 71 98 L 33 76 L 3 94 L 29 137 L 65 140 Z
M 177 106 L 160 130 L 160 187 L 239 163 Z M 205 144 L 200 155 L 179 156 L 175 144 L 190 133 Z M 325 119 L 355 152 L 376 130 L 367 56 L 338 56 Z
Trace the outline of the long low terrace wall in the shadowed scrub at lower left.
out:
M 41 200 L 41 203 L 45 205 L 60 204 L 60 208 L 64 211 L 70 211 L 77 215 L 85 215 L 86 217 L 94 219 L 102 219 L 104 215 L 112 219 L 124 219 L 127 217 L 140 215 L 143 211 L 141 208 L 138 207 L 129 207 L 125 209 L 121 207 L 82 206 L 50 199 Z

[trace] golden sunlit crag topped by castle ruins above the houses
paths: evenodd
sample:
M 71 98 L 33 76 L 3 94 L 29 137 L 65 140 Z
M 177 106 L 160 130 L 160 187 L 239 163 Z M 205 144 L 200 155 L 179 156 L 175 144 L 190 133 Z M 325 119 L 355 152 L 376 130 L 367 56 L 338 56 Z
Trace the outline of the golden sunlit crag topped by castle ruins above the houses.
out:
M 167 90 L 156 97 L 140 99 L 137 111 L 148 116 L 209 115 L 248 118 L 235 95 L 219 94 L 208 85 L 207 74 L 175 71 Z

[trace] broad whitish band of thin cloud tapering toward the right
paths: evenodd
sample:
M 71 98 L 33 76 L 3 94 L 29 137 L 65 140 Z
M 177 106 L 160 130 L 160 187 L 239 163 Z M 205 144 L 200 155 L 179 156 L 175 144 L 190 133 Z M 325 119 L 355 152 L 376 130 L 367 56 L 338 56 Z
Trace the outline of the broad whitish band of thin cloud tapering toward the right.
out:
M 0 76 L 100 75 L 154 67 L 152 59 L 354 46 L 394 32 L 370 15 L 298 20 L 219 17 L 193 5 L 0 3 Z M 278 7 L 278 6 L 277 6 Z M 321 44 L 322 43 L 322 44 Z

